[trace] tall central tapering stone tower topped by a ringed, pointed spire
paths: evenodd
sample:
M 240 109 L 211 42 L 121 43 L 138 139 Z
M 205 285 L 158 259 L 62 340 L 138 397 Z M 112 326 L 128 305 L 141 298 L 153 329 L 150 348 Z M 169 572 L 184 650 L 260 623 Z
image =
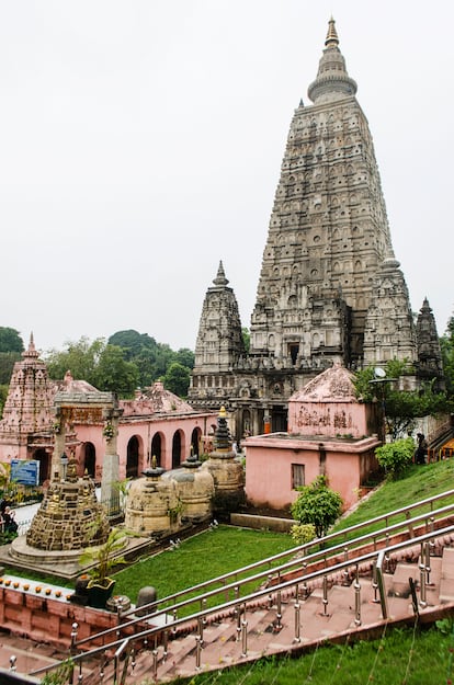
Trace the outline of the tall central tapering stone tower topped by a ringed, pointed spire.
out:
M 372 137 L 355 93 L 331 20 L 308 89 L 314 105 L 300 103 L 291 124 L 252 313 L 251 354 L 287 367 L 362 364 L 376 279 L 384 259 L 394 258 Z M 404 329 L 396 352 L 411 361 L 404 279 L 401 286 L 402 301 L 390 305 Z M 368 328 L 376 333 L 374 363 L 393 358 L 381 333 Z

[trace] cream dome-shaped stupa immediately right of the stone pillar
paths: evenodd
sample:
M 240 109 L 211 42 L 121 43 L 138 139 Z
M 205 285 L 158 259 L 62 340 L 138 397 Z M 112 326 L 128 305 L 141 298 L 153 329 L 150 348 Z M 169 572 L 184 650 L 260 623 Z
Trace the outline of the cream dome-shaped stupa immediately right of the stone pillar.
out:
M 125 512 L 126 527 L 150 537 L 164 537 L 181 527 L 181 502 L 177 482 L 162 475 L 154 456 L 151 468 L 143 471 L 144 478 L 130 483 Z

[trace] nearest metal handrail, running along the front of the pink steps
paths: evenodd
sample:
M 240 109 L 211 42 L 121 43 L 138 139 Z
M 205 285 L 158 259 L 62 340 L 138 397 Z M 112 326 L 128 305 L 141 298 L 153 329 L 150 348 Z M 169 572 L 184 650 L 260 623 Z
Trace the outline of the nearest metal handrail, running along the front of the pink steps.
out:
M 393 553 L 401 551 L 408 547 L 415 547 L 418 545 L 422 546 L 427 541 L 431 541 L 439 537 L 444 537 L 445 535 L 452 535 L 453 533 L 454 533 L 454 525 L 441 528 L 440 530 L 436 532 L 436 534 L 434 534 L 433 532 L 425 533 L 416 538 L 411 538 L 409 540 L 404 540 L 401 543 L 390 545 L 389 547 L 386 548 L 386 550 L 370 551 L 364 555 L 360 555 L 359 557 L 354 559 L 351 559 L 348 561 L 341 561 L 337 563 L 336 566 L 330 567 L 329 569 L 319 569 L 310 573 L 306 573 L 306 574 L 303 573 L 298 578 L 284 581 L 280 583 L 279 585 L 273 586 L 272 592 L 276 596 L 281 596 L 283 591 L 292 590 L 293 587 L 297 589 L 303 582 L 305 583 L 314 582 L 317 579 L 320 579 L 320 578 L 324 579 L 327 575 L 341 574 L 342 571 L 351 567 L 355 568 L 355 573 L 357 576 L 357 569 L 361 566 L 365 564 L 366 562 L 370 562 L 371 566 L 376 564 L 376 567 L 379 568 L 379 570 L 382 571 L 385 553 L 386 556 L 391 556 Z M 329 571 L 329 573 L 327 571 Z M 382 604 L 382 615 L 383 615 L 383 619 L 386 619 L 388 616 L 387 608 L 386 608 L 386 589 L 384 586 L 383 575 L 381 573 L 379 573 L 379 578 L 381 578 L 381 582 L 378 582 L 378 587 L 379 587 L 381 604 Z M 177 630 L 178 627 L 182 627 L 184 625 L 190 625 L 190 624 L 192 624 L 193 626 L 197 626 L 200 625 L 201 620 L 206 619 L 206 617 L 209 615 L 227 614 L 227 613 L 234 612 L 235 609 L 237 612 L 245 613 L 248 604 L 257 605 L 257 603 L 260 602 L 261 600 L 265 600 L 269 596 L 269 594 L 270 594 L 270 589 L 261 589 L 257 592 L 246 595 L 245 597 L 231 600 L 216 607 L 202 609 L 184 618 L 177 619 L 172 624 L 172 629 Z M 102 654 L 106 652 L 107 650 L 112 650 L 121 646 L 124 648 L 125 642 L 134 643 L 135 641 L 148 639 L 154 636 L 157 638 L 166 629 L 168 628 L 162 627 L 162 626 L 154 626 L 150 628 L 146 628 L 145 630 L 136 632 L 133 636 L 128 636 L 126 638 L 124 637 L 118 638 L 115 641 L 110 642 L 109 644 L 104 644 L 102 647 L 94 648 L 90 651 L 73 655 L 72 661 L 76 664 L 88 659 L 93 659 L 94 657 Z M 58 667 L 58 665 L 59 664 L 57 663 L 57 664 L 52 664 L 52 665 L 47 664 L 46 666 L 41 666 L 39 669 L 32 671 L 31 675 L 37 675 L 39 673 L 50 671 L 55 667 Z

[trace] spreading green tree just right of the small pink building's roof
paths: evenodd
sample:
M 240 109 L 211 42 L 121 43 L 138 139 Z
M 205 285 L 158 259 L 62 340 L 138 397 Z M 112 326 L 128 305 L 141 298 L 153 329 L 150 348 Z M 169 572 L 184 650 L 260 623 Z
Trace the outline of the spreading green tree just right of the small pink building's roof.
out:
M 386 431 L 393 439 L 411 434 L 416 419 L 451 410 L 445 392 L 434 392 L 433 383 L 423 384 L 418 390 L 399 390 L 399 378 L 415 374 L 405 361 L 389 361 L 386 376 L 375 378 L 374 367 L 370 366 L 355 374 L 356 395 L 365 402 L 382 403 Z

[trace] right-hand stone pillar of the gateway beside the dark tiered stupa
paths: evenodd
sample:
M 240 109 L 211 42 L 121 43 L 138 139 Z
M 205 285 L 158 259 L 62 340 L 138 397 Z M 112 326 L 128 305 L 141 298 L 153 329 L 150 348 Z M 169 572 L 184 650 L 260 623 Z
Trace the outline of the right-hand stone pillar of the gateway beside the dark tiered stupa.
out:
M 118 434 L 118 420 L 123 409 L 107 409 L 103 412 L 105 418 L 103 435 L 105 438 L 105 455 L 102 463 L 101 502 L 105 506 L 109 516 L 117 516 L 120 509 L 120 490 L 116 483 L 120 480 L 120 457 L 116 448 Z

